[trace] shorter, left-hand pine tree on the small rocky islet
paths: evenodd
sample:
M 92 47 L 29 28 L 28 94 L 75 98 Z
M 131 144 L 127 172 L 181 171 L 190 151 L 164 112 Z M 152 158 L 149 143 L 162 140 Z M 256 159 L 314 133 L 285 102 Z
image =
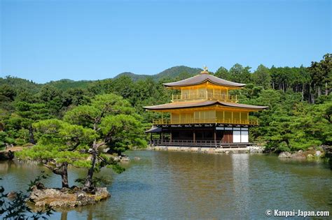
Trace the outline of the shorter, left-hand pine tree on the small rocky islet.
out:
M 88 168 L 88 145 L 97 134 L 92 129 L 69 124 L 58 119 L 47 119 L 33 124 L 38 145 L 18 152 L 22 159 L 41 161 L 44 166 L 62 178 L 62 187 L 69 187 L 68 165 Z

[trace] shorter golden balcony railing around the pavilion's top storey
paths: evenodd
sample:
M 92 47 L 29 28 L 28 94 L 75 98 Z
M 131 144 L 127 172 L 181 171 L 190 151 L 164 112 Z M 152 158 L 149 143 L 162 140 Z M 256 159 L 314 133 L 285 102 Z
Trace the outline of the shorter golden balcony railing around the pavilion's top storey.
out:
M 219 101 L 230 101 L 237 103 L 237 96 L 229 96 L 225 94 L 215 94 L 212 92 L 204 92 L 201 94 L 182 94 L 172 95 L 172 101 L 197 101 L 197 100 L 219 100 Z

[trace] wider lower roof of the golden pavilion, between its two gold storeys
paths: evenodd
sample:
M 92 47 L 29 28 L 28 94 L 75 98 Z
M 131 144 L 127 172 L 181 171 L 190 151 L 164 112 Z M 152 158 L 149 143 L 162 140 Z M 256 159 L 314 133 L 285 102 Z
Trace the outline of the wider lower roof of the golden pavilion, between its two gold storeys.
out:
M 216 100 L 208 100 L 208 101 L 188 101 L 188 102 L 175 102 L 175 103 L 167 103 L 162 105 L 153 105 L 143 107 L 147 110 L 170 110 L 177 108 L 197 108 L 197 107 L 205 107 L 210 105 L 221 105 L 226 107 L 233 108 L 242 108 L 242 109 L 254 109 L 254 110 L 263 110 L 268 108 L 268 106 L 259 106 L 259 105 L 246 105 L 240 103 L 231 103 L 224 101 L 216 101 Z

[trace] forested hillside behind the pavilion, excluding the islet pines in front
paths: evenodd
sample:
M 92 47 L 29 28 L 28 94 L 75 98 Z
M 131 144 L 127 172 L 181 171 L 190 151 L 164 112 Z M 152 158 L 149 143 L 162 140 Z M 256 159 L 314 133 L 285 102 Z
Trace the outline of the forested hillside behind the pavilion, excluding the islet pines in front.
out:
M 332 143 L 332 54 L 307 66 L 268 68 L 260 65 L 251 71 L 248 66 L 235 64 L 230 69 L 221 67 L 211 74 L 247 83 L 244 89 L 233 91 L 240 103 L 270 107 L 251 115 L 260 123 L 251 129 L 251 142 L 276 151 L 293 151 Z M 73 109 L 88 111 L 85 106 L 95 105 L 96 97 L 102 94 L 116 94 L 129 103 L 134 109 L 135 120 L 140 122 L 133 132 L 144 139 L 144 129 L 148 129 L 159 115 L 144 111 L 142 106 L 169 102 L 174 91 L 165 89 L 162 83 L 182 80 L 200 71 L 199 68 L 178 66 L 153 78 L 120 75 L 106 80 L 60 80 L 45 85 L 19 78 L 0 78 L 0 146 L 35 143 L 39 137 L 35 135 L 34 123 L 64 119 Z M 66 122 L 70 119 L 67 116 Z M 130 118 L 123 116 L 121 120 L 124 123 Z M 142 144 L 140 140 L 131 141 L 134 142 Z M 119 146 L 113 147 L 118 149 Z

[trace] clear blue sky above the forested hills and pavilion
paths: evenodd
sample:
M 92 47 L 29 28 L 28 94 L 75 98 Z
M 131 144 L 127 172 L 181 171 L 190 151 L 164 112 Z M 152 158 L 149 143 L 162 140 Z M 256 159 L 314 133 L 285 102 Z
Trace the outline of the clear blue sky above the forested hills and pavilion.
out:
M 309 66 L 332 52 L 331 1 L 1 1 L 0 77 L 48 82 Z

